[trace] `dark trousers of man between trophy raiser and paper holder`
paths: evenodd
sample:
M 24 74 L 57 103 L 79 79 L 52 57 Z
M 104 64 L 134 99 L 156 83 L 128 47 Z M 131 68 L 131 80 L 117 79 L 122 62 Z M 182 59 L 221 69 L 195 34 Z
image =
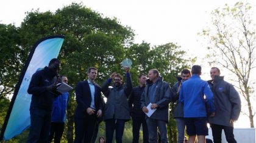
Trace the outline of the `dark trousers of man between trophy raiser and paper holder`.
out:
M 149 142 L 149 133 L 148 133 L 148 127 L 146 123 L 145 116 L 132 116 L 132 135 L 133 143 L 138 143 L 138 140 L 140 138 L 140 126 L 142 124 L 142 130 L 143 130 L 143 142 L 148 143 Z

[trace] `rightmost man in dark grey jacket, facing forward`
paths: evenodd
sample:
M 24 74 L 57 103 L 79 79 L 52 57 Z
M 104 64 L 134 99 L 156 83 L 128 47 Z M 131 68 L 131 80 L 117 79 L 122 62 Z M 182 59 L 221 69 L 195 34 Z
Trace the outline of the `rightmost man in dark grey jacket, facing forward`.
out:
M 241 100 L 233 85 L 224 81 L 224 77 L 220 75 L 219 68 L 211 68 L 212 80 L 208 81 L 208 84 L 212 88 L 215 98 L 216 113 L 208 120 L 212 128 L 214 142 L 221 142 L 221 133 L 224 130 L 227 142 L 236 143 L 233 135 L 233 122 L 238 120 L 240 115 Z

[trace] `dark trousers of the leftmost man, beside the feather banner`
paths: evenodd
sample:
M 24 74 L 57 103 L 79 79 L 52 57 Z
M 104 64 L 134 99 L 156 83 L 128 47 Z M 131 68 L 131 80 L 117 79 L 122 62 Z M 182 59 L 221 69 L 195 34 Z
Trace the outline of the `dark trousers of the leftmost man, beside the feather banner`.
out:
M 47 142 L 51 127 L 51 111 L 41 108 L 30 109 L 30 130 L 28 143 Z

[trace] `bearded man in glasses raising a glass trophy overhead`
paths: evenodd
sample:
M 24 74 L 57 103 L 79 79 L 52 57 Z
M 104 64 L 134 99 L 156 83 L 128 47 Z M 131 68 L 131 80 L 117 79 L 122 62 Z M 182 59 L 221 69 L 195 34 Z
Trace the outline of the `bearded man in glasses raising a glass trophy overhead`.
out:
M 130 68 L 125 67 L 124 69 L 126 70 L 126 86 L 123 85 L 123 77 L 119 73 L 112 73 L 102 85 L 102 92 L 107 98 L 104 109 L 107 143 L 112 143 L 114 131 L 116 132 L 116 143 L 122 142 L 124 124 L 130 119 L 127 98 L 132 91 L 132 79 L 129 73 Z M 112 80 L 113 88 L 109 88 Z

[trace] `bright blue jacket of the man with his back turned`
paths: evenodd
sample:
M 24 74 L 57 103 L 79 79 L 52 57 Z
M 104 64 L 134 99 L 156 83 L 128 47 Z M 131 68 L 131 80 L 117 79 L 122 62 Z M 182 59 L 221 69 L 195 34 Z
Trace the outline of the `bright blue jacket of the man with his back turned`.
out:
M 183 82 L 180 88 L 179 101 L 184 104 L 184 118 L 207 117 L 207 108 L 210 113 L 215 112 L 213 93 L 206 81 L 199 75 L 192 75 Z

